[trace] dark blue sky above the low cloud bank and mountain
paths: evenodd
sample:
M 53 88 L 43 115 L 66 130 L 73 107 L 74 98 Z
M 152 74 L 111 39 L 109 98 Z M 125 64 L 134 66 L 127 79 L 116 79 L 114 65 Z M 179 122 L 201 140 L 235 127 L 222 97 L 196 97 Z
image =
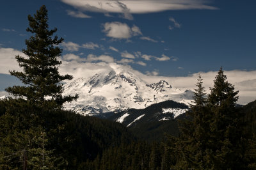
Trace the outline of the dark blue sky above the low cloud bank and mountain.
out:
M 256 70 L 256 1 L 191 2 L 216 9 L 171 9 L 140 14 L 131 10 L 131 20 L 120 17 L 124 13 L 109 11 L 107 14 L 111 17 L 107 17 L 106 12 L 88 11 L 65 0 L 3 1 L 0 47 L 15 50 L 26 47 L 24 40 L 30 36 L 26 33 L 27 16 L 45 4 L 49 26 L 57 27 L 57 35 L 65 39 L 66 45 L 61 46 L 63 56 L 74 54 L 88 62 L 89 54 L 104 55 L 143 73 L 156 72 L 164 76 L 216 71 L 220 66 L 225 70 Z M 75 17 L 74 13 L 83 15 Z M 123 37 L 127 32 L 118 35 L 122 28 L 129 28 L 129 38 Z M 114 32 L 117 35 L 113 35 Z

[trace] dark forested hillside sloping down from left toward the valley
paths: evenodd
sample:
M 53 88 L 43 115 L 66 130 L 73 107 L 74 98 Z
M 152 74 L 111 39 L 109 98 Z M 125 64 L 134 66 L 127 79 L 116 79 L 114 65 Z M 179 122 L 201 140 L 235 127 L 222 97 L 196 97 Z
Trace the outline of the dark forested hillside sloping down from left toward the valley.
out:
M 120 123 L 69 111 L 36 112 L 36 118 L 24 109 L 10 114 L 6 102 L 0 101 L 0 169 L 22 169 L 24 159 L 28 169 L 43 162 L 50 169 L 77 169 L 107 148 L 136 141 Z

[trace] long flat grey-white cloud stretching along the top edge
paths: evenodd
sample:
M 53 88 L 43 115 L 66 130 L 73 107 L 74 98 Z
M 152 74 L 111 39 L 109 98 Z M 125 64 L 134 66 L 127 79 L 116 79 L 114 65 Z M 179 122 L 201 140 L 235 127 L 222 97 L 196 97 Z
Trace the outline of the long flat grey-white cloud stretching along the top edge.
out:
M 84 12 L 100 13 L 122 13 L 125 19 L 132 19 L 131 13 L 152 13 L 167 10 L 191 10 L 207 9 L 216 10 L 217 8 L 207 5 L 208 1 L 202 0 L 61 0 Z

